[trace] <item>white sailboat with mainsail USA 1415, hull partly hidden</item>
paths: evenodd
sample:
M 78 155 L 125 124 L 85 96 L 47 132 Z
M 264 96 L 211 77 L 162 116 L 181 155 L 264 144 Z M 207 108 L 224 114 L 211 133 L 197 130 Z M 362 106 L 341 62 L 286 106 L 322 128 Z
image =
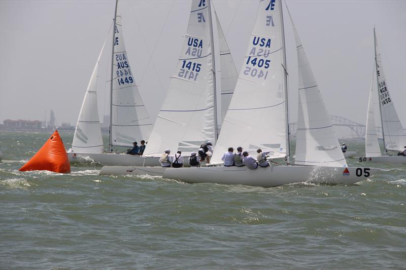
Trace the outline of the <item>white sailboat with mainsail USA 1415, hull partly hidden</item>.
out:
M 216 14 L 221 65 L 221 108 L 225 114 L 238 73 Z M 211 1 L 193 0 L 183 48 L 170 87 L 144 152 L 146 161 L 159 161 L 163 150 L 182 151 L 187 158 L 201 144 L 216 145 L 217 123 L 216 50 Z M 222 118 L 221 118 L 222 119 Z M 223 127 L 221 127 L 223 128 Z M 186 159 L 184 164 L 187 165 Z M 135 165 L 105 166 L 100 174 L 162 175 L 164 168 Z

